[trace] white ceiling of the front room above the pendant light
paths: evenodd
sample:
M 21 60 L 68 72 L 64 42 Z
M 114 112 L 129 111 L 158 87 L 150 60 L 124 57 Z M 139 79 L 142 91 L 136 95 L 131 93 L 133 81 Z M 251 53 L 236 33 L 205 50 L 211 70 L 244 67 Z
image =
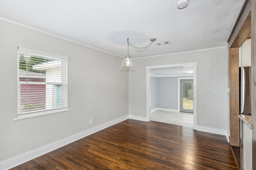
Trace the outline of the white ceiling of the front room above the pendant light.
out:
M 225 46 L 244 0 L 0 0 L 0 17 L 132 58 Z

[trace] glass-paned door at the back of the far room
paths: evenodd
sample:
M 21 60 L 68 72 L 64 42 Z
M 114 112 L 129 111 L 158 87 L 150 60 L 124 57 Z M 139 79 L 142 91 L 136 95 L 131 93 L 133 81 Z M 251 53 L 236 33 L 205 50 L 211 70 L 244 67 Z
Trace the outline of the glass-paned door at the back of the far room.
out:
M 193 79 L 180 80 L 180 111 L 193 113 Z

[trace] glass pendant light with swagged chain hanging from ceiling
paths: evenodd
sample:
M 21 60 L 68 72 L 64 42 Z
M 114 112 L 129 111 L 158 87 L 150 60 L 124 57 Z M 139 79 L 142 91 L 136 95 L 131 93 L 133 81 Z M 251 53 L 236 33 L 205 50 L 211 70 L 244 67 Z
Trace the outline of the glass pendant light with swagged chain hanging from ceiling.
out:
M 133 60 L 131 59 L 130 55 L 129 55 L 129 45 L 136 48 L 136 49 L 146 49 L 147 47 L 149 47 L 154 41 L 156 41 L 155 38 L 150 39 L 151 43 L 149 45 L 147 45 L 146 47 L 135 47 L 134 45 L 131 45 L 129 43 L 129 39 L 127 39 L 127 55 L 126 58 L 122 61 L 122 66 L 121 68 L 127 68 L 127 69 L 131 69 L 131 68 L 135 68 Z

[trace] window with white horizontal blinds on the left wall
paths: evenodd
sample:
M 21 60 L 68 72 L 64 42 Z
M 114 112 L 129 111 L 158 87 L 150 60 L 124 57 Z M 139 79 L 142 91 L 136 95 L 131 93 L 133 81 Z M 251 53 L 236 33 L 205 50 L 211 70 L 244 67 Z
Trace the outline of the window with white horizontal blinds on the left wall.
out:
M 68 57 L 18 48 L 18 118 L 67 109 Z

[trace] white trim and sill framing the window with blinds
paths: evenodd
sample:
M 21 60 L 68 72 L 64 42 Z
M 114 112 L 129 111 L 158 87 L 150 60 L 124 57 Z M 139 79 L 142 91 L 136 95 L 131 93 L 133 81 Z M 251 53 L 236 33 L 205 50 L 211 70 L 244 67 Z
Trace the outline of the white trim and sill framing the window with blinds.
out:
M 20 51 L 22 52 L 26 52 L 26 53 L 30 53 L 30 54 L 34 54 L 34 55 L 40 55 L 42 57 L 48 57 L 48 58 L 59 58 L 59 59 L 65 59 L 68 60 L 68 57 L 66 56 L 61 56 L 61 55 L 56 55 L 56 54 L 51 54 L 51 53 L 45 53 L 42 51 L 36 51 L 36 50 L 32 50 L 32 49 L 26 49 L 26 48 L 22 48 L 22 47 L 18 47 L 18 55 L 20 53 Z M 18 64 L 17 64 L 17 81 L 19 84 L 19 65 L 20 65 L 20 61 L 19 61 L 19 57 L 18 58 Z M 19 95 L 19 94 L 18 94 Z M 19 104 L 18 101 L 18 96 L 17 96 L 17 106 Z M 18 107 L 17 107 L 18 108 Z M 49 115 L 52 113 L 59 113 L 59 112 L 64 112 L 64 111 L 69 111 L 70 109 L 68 109 L 68 62 L 66 63 L 66 107 L 65 108 L 60 108 L 60 109 L 52 109 L 52 110 L 47 110 L 47 111 L 38 111 L 36 113 L 27 113 L 27 114 L 20 114 L 18 115 L 18 110 L 17 110 L 17 118 L 13 119 L 14 121 L 16 120 L 21 120 L 21 119 L 26 119 L 26 118 L 30 118 L 30 117 L 37 117 L 37 116 L 42 116 L 42 115 Z

